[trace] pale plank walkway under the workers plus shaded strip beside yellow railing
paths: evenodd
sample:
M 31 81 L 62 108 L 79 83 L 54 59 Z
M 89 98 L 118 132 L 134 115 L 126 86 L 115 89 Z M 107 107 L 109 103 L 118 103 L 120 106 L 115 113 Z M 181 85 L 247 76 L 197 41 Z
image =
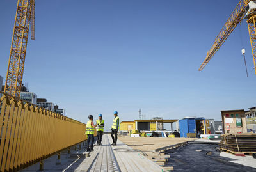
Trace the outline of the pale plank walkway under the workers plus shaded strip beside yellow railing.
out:
M 102 146 L 95 146 L 93 152 L 86 152 L 86 145 L 81 150 L 72 149 L 61 152 L 61 159 L 57 155 L 44 160 L 44 171 L 51 172 L 86 172 L 86 171 L 165 171 L 161 166 L 147 159 L 143 153 L 133 150 L 131 147 L 118 140 L 116 146 L 111 146 L 111 137 L 104 134 Z M 23 172 L 38 171 L 39 163 L 34 164 Z

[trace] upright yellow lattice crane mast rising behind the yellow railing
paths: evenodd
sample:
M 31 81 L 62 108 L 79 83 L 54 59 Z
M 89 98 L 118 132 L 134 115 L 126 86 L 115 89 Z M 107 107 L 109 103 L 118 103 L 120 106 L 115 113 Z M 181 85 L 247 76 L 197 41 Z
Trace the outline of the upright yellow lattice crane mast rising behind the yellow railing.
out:
M 22 86 L 29 24 L 31 39 L 35 40 L 35 0 L 18 0 L 4 88 L 4 92 L 16 97 L 20 97 Z

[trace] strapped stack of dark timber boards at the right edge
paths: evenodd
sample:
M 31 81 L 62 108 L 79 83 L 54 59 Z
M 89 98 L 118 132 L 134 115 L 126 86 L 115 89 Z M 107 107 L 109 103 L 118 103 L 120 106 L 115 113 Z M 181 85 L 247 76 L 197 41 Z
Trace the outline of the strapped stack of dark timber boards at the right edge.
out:
M 256 153 L 256 134 L 223 134 L 219 146 L 232 153 Z

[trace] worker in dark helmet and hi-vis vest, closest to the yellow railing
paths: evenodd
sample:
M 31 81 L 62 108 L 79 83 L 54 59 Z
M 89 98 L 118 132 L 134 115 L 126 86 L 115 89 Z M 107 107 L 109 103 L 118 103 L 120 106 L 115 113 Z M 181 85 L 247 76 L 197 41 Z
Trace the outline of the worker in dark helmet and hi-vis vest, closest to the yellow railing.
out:
M 86 124 L 86 132 L 87 134 L 87 148 L 86 151 L 93 151 L 93 143 L 94 143 L 94 128 L 97 127 L 97 125 L 94 125 L 93 123 L 93 116 L 88 116 L 89 121 Z

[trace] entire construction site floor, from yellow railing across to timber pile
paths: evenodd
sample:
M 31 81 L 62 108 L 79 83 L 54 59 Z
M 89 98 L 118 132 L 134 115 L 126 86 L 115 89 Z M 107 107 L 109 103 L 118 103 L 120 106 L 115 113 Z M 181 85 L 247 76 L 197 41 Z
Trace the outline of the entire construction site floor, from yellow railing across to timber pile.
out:
M 195 143 L 156 151 L 186 141 Z M 227 152 L 218 152 L 218 145 L 212 142 L 198 143 L 195 138 L 119 136 L 117 146 L 111 146 L 111 142 L 110 135 L 104 134 L 103 145 L 95 146 L 94 152 L 88 157 L 86 145 L 81 146 L 81 150 L 75 151 L 73 148 L 70 154 L 65 150 L 61 152 L 60 160 L 56 155 L 45 159 L 44 171 L 256 171 L 256 159 L 252 156 L 236 157 Z M 39 164 L 34 164 L 22 171 L 38 169 Z

